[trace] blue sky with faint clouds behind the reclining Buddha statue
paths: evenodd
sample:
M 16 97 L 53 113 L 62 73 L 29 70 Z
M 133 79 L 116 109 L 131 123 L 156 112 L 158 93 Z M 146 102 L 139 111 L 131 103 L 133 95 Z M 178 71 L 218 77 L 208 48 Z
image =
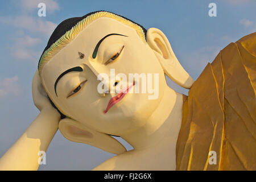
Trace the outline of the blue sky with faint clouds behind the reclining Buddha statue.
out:
M 46 17 L 38 16 L 38 3 Z M 216 3 L 217 16 L 208 15 Z M 38 115 L 31 93 L 32 77 L 49 36 L 61 21 L 91 11 L 108 10 L 166 34 L 177 59 L 196 80 L 208 62 L 230 42 L 256 31 L 255 0 L 57 1 L 0 2 L 0 156 Z M 171 88 L 187 93 L 170 79 Z M 125 144 L 131 148 L 128 144 Z M 92 169 L 112 154 L 65 139 L 58 131 L 47 151 L 45 169 Z

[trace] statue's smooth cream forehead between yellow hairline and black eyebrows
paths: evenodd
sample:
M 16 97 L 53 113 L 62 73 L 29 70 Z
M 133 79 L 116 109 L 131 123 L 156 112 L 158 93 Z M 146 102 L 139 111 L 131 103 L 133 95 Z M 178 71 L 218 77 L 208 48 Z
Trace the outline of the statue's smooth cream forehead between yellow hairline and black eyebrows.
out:
M 92 53 L 96 44 L 104 36 L 113 33 L 127 35 L 129 38 L 138 36 L 134 28 L 118 22 L 118 20 L 105 17 L 94 20 L 71 43 L 61 49 L 44 65 L 41 73 L 44 85 L 54 84 L 56 78 L 69 68 L 77 67 L 82 63 L 89 64 L 88 60 L 92 60 Z M 113 36 L 112 39 L 114 37 L 119 38 L 118 36 Z M 84 59 L 79 58 L 78 52 L 84 53 Z

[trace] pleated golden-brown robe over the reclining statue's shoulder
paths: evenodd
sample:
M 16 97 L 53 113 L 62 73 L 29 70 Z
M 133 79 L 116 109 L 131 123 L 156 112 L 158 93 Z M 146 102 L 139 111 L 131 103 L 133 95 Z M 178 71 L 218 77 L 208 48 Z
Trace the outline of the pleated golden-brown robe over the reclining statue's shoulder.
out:
M 177 170 L 256 170 L 255 90 L 256 32 L 222 49 L 184 96 Z

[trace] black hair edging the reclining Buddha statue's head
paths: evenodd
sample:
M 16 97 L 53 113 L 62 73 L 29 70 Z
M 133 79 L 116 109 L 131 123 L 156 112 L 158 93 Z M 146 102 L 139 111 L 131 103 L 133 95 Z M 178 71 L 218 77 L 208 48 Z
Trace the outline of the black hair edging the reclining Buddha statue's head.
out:
M 42 55 L 40 56 L 40 59 L 41 57 L 43 56 L 44 52 L 47 51 L 47 49 L 49 47 L 52 46 L 52 44 L 54 44 L 58 39 L 61 38 L 61 36 L 63 36 L 67 31 L 71 30 L 71 28 L 73 26 L 75 26 L 77 23 L 79 23 L 82 19 L 85 19 L 87 16 L 89 15 L 92 15 L 94 13 L 98 13 L 98 12 L 108 12 L 108 13 L 112 13 L 112 12 L 109 12 L 109 11 L 104 11 L 104 10 L 101 10 L 101 11 L 94 11 L 94 12 L 91 12 L 91 13 L 88 13 L 84 16 L 81 16 L 81 17 L 74 17 L 74 18 L 69 18 L 69 19 L 66 19 L 64 20 L 63 22 L 61 22 L 56 28 L 55 30 L 53 31 L 52 35 L 50 36 L 49 40 L 48 40 L 48 43 L 47 43 L 47 46 L 46 48 L 44 48 L 44 51 L 42 53 Z M 117 15 L 115 13 L 112 13 L 114 15 Z M 117 16 L 121 16 L 121 15 L 117 15 Z M 126 19 L 126 20 L 129 20 L 130 22 L 133 22 L 132 20 L 128 19 L 128 18 L 125 18 L 124 16 L 121 16 L 122 18 Z M 147 34 L 147 30 L 146 28 L 144 28 L 143 26 L 141 26 L 140 24 L 138 23 L 135 23 L 133 22 L 134 24 L 137 24 L 139 27 L 142 28 L 143 32 L 144 32 L 144 36 L 145 36 L 145 39 L 146 39 L 146 34 Z M 39 59 L 39 62 L 40 62 L 40 59 Z M 39 63 L 38 63 L 38 68 L 39 68 Z M 49 98 L 49 96 L 48 96 Z M 66 118 L 66 116 L 61 113 L 61 111 L 55 106 L 55 104 L 53 104 L 53 102 L 51 101 L 51 99 L 49 98 L 52 106 L 57 110 L 59 111 L 60 115 L 61 115 L 61 119 L 63 118 Z

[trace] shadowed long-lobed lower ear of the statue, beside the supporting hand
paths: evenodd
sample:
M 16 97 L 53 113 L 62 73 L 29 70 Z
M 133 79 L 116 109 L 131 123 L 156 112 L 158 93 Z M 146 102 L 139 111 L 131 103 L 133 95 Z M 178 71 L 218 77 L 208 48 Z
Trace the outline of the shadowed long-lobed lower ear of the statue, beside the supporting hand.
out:
M 72 142 L 90 144 L 113 154 L 126 151 L 126 148 L 110 135 L 85 127 L 73 119 L 61 119 L 59 129 L 61 134 Z

